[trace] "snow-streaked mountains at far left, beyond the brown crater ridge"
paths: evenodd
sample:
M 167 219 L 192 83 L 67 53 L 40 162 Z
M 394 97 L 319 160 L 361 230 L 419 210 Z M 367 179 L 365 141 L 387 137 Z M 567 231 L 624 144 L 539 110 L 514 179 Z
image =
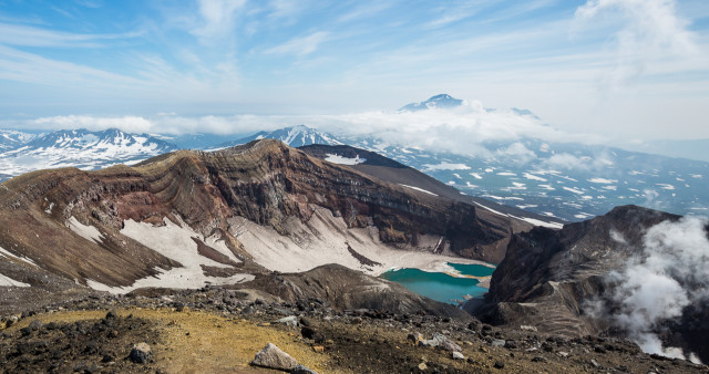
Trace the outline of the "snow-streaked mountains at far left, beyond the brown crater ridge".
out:
M 0 153 L 0 179 L 44 168 L 90 170 L 133 164 L 177 148 L 147 134 L 129 134 L 115 128 L 101 132 L 60 129 L 17 143 Z

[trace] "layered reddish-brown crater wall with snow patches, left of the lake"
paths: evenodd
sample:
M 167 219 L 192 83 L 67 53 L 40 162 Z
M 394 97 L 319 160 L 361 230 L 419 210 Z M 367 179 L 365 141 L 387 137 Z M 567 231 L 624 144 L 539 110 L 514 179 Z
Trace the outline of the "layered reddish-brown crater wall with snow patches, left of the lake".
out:
M 361 229 L 373 236 L 368 239 L 372 246 L 492 262 L 504 257 L 512 231 L 510 218 L 388 184 L 276 141 L 214 153 L 179 150 L 135 167 L 35 172 L 0 187 L 1 248 L 62 278 L 105 287 L 126 287 L 191 266 L 213 278 L 263 272 L 253 261 L 259 249 L 245 248 L 238 238 L 244 220 L 306 249 L 315 237 L 331 233 L 323 230 L 359 240 L 347 231 Z M 322 224 L 330 228 L 315 227 L 318 209 L 346 227 L 331 221 Z M 242 224 L 235 224 L 237 218 Z M 301 236 L 304 228 L 312 231 L 310 237 Z M 151 239 L 156 235 L 164 237 Z M 201 262 L 165 245 L 178 235 L 187 236 L 183 241 L 194 246 Z M 264 240 L 271 247 L 280 241 Z M 3 259 L 0 271 L 37 269 Z M 21 271 L 13 273 L 29 280 Z

